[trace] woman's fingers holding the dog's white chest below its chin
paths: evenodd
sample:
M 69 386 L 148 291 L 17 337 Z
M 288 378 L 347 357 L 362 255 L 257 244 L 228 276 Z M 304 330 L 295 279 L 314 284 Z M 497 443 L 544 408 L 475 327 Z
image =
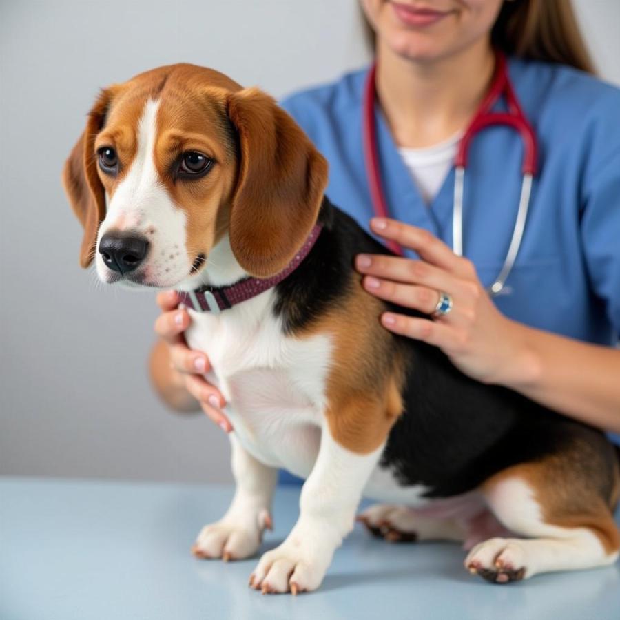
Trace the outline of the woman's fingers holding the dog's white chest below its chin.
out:
M 190 318 L 187 310 L 178 308 L 178 293 L 158 293 L 157 304 L 162 313 L 155 322 L 155 331 L 168 347 L 170 382 L 178 388 L 185 388 L 211 420 L 229 433 L 232 431 L 231 423 L 221 411 L 225 400 L 216 386 L 211 385 L 204 377 L 211 369 L 209 359 L 204 353 L 189 349 L 183 338 Z

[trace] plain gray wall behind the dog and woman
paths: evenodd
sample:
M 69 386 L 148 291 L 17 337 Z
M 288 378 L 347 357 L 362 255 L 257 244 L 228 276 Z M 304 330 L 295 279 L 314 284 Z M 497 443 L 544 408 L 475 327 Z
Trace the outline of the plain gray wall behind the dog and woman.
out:
M 620 84 L 620 0 L 576 4 Z M 356 5 L 1 1 L 0 474 L 231 479 L 223 433 L 150 390 L 153 294 L 78 267 L 61 167 L 97 89 L 147 68 L 208 65 L 281 96 L 364 64 Z

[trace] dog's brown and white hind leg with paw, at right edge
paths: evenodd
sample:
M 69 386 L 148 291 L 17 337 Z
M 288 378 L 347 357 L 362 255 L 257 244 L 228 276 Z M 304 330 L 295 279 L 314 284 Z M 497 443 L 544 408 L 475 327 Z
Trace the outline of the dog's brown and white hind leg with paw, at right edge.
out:
M 620 536 L 610 510 L 611 496 L 597 473 L 597 458 L 582 463 L 570 455 L 515 466 L 484 485 L 488 506 L 521 538 L 492 538 L 465 560 L 470 572 L 507 583 L 540 572 L 579 570 L 612 564 Z M 601 484 L 602 483 L 602 484 Z M 617 484 L 617 483 L 616 483 Z

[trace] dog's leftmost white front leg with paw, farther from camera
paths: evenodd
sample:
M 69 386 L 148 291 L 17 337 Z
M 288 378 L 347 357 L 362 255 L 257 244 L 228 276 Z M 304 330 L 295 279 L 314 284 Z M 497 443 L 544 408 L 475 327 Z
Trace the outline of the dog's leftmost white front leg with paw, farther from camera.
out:
M 256 553 L 263 530 L 271 529 L 271 498 L 277 471 L 247 453 L 234 433 L 230 442 L 235 495 L 222 519 L 200 531 L 192 547 L 197 557 L 224 560 L 249 557 Z

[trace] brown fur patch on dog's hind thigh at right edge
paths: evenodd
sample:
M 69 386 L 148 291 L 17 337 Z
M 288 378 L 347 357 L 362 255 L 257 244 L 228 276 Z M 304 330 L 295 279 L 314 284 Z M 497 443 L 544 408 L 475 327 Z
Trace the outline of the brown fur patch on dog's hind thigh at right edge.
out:
M 612 515 L 613 495 L 619 484 L 618 467 L 614 464 L 610 494 L 606 466 L 594 452 L 585 441 L 576 439 L 561 453 L 497 473 L 482 488 L 488 492 L 508 478 L 524 480 L 532 489 L 546 524 L 588 528 L 610 554 L 620 549 L 620 533 Z

